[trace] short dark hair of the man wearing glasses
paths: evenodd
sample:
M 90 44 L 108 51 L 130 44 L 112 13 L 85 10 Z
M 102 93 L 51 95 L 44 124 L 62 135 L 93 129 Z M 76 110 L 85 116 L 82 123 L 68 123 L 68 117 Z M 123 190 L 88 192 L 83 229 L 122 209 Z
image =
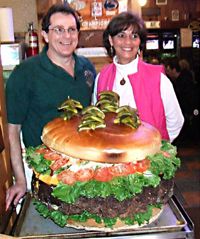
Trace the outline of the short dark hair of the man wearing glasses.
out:
M 42 20 L 42 30 L 43 31 L 45 31 L 47 33 L 49 32 L 49 26 L 51 25 L 50 18 L 55 13 L 63 13 L 66 15 L 69 15 L 69 14 L 73 15 L 76 20 L 77 30 L 78 31 L 80 30 L 80 22 L 79 22 L 76 11 L 73 8 L 71 8 L 69 5 L 54 4 L 49 8 L 47 14 L 44 16 L 44 18 Z

